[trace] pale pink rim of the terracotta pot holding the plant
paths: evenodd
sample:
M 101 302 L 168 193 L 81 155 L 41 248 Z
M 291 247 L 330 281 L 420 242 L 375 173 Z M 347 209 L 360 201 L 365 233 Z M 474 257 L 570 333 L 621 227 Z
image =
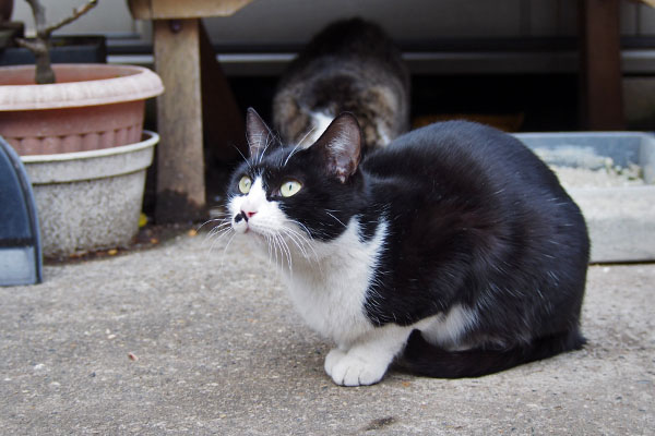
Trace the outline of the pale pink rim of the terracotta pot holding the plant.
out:
M 0 111 L 60 109 L 114 102 L 143 100 L 164 92 L 159 76 L 150 69 L 138 65 L 107 63 L 53 64 L 56 74 L 84 68 L 90 73 L 104 73 L 108 78 L 63 82 L 45 85 L 2 85 L 0 82 Z M 34 75 L 34 65 L 1 66 L 0 73 Z

